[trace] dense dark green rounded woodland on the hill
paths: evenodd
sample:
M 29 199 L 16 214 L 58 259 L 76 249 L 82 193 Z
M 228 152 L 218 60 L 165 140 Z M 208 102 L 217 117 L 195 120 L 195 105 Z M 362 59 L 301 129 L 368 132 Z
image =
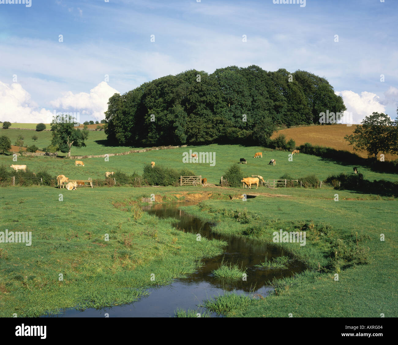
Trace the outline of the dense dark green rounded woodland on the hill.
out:
M 289 81 L 289 74 L 253 65 L 165 76 L 110 97 L 105 133 L 111 143 L 130 146 L 265 146 L 275 125 L 319 123 L 321 112 L 346 110 L 325 78 L 297 70 Z

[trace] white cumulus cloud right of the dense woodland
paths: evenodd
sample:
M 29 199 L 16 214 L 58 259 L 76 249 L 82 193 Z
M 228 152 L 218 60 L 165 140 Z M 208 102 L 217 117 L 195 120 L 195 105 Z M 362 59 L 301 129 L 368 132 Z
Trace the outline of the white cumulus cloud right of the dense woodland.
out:
M 352 113 L 354 124 L 359 124 L 365 116 L 372 115 L 373 112 L 385 113 L 385 107 L 380 101 L 380 97 L 372 92 L 363 91 L 356 94 L 353 91 L 345 90 L 335 92 L 337 96 L 343 97 L 347 112 Z

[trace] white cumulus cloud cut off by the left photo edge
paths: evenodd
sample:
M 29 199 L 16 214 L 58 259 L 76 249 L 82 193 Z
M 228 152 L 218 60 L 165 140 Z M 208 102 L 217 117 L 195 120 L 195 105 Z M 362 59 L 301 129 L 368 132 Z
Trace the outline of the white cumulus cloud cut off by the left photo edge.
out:
M 29 92 L 18 83 L 11 85 L 0 81 L 0 120 L 20 123 L 49 123 L 51 113 L 38 109 Z

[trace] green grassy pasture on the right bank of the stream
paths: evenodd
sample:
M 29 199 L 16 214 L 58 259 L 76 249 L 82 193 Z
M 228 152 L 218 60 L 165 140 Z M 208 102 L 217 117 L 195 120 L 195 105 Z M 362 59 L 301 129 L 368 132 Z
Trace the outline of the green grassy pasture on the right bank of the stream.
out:
M 274 282 L 276 294 L 265 299 L 257 298 L 251 304 L 234 304 L 235 296 L 227 296 L 231 306 L 224 309 L 223 314 L 236 317 L 288 317 L 290 313 L 293 317 L 378 318 L 380 314 L 397 317 L 396 200 L 372 200 L 370 195 L 361 195 L 364 200 L 352 200 L 359 195 L 330 188 L 323 191 L 288 188 L 283 191 L 290 197 L 260 195 L 245 202 L 207 200 L 202 201 L 200 207 L 183 208 L 195 216 L 218 222 L 213 231 L 242 240 L 249 236 L 271 242 L 272 233 L 280 228 L 291 231 L 293 225 L 310 224 L 307 229 L 304 226 L 305 246 L 277 244 L 304 261 L 308 271 Z M 339 201 L 334 201 L 335 193 L 339 193 Z M 242 224 L 241 219 L 239 222 L 226 216 L 228 212 L 244 211 L 244 208 L 258 218 L 251 214 L 253 219 Z M 322 226 L 328 230 L 319 230 Z M 380 241 L 381 234 L 384 234 L 384 241 Z M 336 259 L 330 256 L 333 243 L 338 244 L 335 248 L 343 256 L 347 255 L 345 246 L 351 246 L 359 255 L 367 253 L 367 264 L 348 260 L 345 265 L 338 263 L 336 267 L 325 269 Z M 336 273 L 338 281 L 335 281 Z

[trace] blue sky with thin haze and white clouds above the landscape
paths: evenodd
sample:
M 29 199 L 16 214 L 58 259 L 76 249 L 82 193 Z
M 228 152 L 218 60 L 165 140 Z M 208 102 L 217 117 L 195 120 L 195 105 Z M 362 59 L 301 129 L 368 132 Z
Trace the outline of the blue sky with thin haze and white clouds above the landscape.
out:
M 353 123 L 397 117 L 397 0 L 19 1 L 0 0 L 0 121 L 100 121 L 144 82 L 252 64 L 326 78 Z

